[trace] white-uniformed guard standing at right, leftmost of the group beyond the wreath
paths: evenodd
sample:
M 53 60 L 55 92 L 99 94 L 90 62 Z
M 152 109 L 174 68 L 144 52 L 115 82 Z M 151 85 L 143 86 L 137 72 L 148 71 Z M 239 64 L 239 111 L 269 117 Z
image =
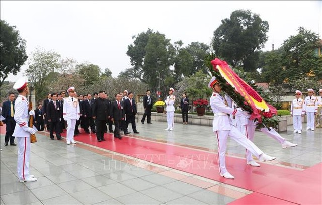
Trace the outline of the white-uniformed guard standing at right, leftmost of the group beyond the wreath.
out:
M 291 115 L 293 116 L 293 133 L 302 132 L 302 117 L 304 117 L 305 111 L 303 110 L 304 100 L 301 98 L 302 92 L 299 90 L 295 91 L 295 99 L 292 100 L 291 104 Z

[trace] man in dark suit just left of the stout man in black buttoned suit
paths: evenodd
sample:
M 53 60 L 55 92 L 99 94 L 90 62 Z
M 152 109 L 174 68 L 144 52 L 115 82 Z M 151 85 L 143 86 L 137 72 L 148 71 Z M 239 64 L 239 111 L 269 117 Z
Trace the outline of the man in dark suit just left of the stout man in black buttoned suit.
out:
M 96 128 L 93 120 L 93 110 L 91 105 L 92 95 L 87 94 L 86 99 L 83 101 L 83 117 L 84 117 L 84 130 L 86 133 L 90 133 L 89 127 L 91 127 L 91 131 L 95 134 Z

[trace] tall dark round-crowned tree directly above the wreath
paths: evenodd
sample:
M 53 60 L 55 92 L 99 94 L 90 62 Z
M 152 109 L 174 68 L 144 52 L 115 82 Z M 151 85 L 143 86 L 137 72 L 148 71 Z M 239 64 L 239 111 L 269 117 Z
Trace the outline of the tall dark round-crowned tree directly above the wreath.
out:
M 268 37 L 267 21 L 250 10 L 236 10 L 230 19 L 224 19 L 214 31 L 212 47 L 217 56 L 228 64 L 241 66 L 245 71 L 255 71 L 259 60 L 259 50 Z

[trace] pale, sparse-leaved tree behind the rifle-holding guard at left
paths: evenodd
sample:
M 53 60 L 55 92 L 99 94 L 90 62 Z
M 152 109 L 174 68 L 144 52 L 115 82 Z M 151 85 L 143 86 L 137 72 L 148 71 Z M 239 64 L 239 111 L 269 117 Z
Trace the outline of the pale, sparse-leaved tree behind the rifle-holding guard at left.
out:
M 37 102 L 45 98 L 47 93 L 51 91 L 48 85 L 57 79 L 57 71 L 60 66 L 60 55 L 54 51 L 37 48 L 32 53 L 26 75 L 35 88 Z M 56 74 L 54 74 L 55 72 Z

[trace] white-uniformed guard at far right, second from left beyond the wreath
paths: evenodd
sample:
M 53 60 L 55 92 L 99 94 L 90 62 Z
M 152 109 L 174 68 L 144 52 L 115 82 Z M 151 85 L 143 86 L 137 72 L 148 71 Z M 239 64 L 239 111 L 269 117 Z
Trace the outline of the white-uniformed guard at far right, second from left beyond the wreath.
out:
M 315 110 L 315 102 L 316 97 L 313 96 L 314 90 L 313 89 L 307 89 L 308 96 L 305 97 L 304 107 L 305 107 L 305 113 L 307 116 L 307 123 L 305 130 L 312 130 L 314 131 L 314 115 L 317 113 L 317 109 Z

